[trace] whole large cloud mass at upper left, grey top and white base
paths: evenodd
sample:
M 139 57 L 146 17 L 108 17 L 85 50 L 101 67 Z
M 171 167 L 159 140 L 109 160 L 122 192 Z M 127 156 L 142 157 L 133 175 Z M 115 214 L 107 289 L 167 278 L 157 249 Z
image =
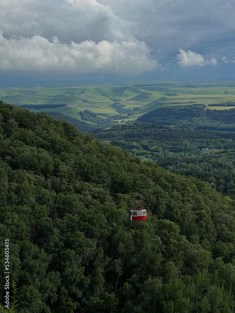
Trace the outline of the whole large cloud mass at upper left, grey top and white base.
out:
M 9 3 L 0 18 L 0 71 L 129 75 L 158 66 L 149 45 L 134 35 L 138 23 L 119 18 L 109 5 L 25 0 L 8 9 Z

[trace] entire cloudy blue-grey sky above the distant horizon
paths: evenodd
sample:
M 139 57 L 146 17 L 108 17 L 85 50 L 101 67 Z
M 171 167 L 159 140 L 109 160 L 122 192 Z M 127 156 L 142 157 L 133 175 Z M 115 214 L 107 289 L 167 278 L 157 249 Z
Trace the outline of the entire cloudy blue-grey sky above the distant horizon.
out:
M 235 0 L 0 0 L 0 79 L 235 76 Z

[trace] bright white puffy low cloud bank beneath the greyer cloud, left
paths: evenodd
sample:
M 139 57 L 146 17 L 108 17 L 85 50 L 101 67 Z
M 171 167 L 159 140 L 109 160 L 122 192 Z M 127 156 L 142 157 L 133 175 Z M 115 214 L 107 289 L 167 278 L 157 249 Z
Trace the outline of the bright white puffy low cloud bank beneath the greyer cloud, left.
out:
M 135 48 L 132 48 L 135 47 Z M 131 49 L 130 49 L 131 48 Z M 0 32 L 0 69 L 2 71 L 96 73 L 112 71 L 116 74 L 135 74 L 158 66 L 151 59 L 150 49 L 144 42 L 118 43 L 85 40 L 61 44 L 56 36 L 47 38 L 10 38 Z

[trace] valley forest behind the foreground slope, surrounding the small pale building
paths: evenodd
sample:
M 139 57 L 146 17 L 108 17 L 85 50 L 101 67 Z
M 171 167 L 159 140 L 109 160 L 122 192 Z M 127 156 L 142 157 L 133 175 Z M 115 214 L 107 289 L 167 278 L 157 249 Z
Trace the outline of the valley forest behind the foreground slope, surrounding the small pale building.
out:
M 217 191 L 235 198 L 234 132 L 136 123 L 98 129 L 94 134 L 142 160 L 152 160 L 170 171 L 209 182 Z M 220 151 L 201 154 L 205 147 Z

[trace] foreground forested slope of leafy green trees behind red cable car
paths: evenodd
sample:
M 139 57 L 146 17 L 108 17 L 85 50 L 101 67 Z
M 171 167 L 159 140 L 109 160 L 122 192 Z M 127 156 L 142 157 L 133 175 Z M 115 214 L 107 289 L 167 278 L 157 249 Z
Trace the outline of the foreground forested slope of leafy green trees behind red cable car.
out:
M 0 174 L 20 313 L 234 312 L 235 201 L 208 183 L 2 101 Z

